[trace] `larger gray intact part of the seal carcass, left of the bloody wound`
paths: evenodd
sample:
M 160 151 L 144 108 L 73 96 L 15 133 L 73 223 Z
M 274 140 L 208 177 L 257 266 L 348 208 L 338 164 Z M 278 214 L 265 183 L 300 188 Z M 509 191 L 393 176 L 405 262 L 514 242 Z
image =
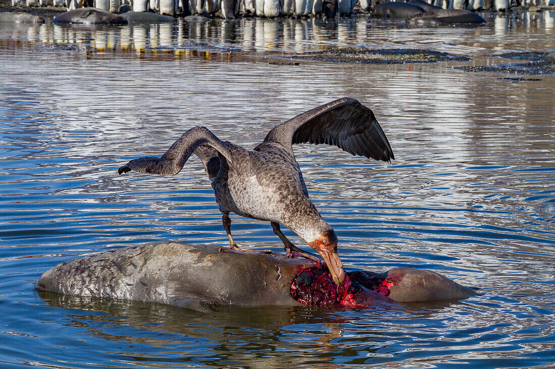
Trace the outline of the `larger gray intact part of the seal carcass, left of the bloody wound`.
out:
M 224 252 L 220 252 L 223 250 Z M 159 242 L 114 249 L 57 265 L 39 290 L 210 310 L 221 305 L 299 305 L 289 292 L 301 270 L 315 265 L 271 253 L 217 245 Z

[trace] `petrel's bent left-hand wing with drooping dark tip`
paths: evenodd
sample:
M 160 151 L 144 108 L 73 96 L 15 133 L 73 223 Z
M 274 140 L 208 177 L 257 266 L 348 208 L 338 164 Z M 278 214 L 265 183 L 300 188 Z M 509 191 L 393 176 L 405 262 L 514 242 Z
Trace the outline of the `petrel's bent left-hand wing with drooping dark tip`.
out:
M 176 175 L 181 171 L 189 156 L 201 145 L 202 147 L 213 147 L 228 163 L 231 163 L 231 150 L 227 143 L 218 139 L 205 127 L 194 127 L 186 131 L 179 140 L 175 141 L 162 157 L 143 156 L 134 159 L 120 167 L 118 173 L 122 174 L 133 170 L 139 173 Z

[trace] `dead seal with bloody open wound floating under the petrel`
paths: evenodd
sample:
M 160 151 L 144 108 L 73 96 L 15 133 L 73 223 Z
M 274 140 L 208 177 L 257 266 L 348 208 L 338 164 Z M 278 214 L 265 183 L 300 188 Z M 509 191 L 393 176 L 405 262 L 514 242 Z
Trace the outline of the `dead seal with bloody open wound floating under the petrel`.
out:
M 391 306 L 473 294 L 472 289 L 437 273 L 412 268 L 394 268 L 383 274 L 351 272 L 337 288 L 327 268 L 312 260 L 176 242 L 113 249 L 70 260 L 44 273 L 37 289 L 199 311 L 229 305 Z

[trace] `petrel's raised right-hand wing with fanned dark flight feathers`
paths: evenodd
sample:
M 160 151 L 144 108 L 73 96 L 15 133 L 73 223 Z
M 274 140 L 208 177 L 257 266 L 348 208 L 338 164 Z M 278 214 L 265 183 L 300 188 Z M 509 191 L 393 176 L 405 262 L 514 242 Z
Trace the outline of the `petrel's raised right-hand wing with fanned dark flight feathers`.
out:
M 395 159 L 372 110 L 351 98 L 315 107 L 275 126 L 264 141 L 292 151 L 293 143 L 327 143 L 352 155 L 391 162 Z

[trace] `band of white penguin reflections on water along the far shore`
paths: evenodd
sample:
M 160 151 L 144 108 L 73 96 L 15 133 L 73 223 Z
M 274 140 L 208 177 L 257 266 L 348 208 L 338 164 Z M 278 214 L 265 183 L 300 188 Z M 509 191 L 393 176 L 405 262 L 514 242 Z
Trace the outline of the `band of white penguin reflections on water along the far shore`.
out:
M 159 47 L 198 49 L 191 44 L 195 41 L 215 47 L 260 52 L 304 53 L 326 47 L 365 45 L 377 48 L 433 48 L 455 54 L 483 55 L 492 49 L 502 51 L 511 42 L 517 41 L 534 45 L 545 42 L 545 48 L 552 49 L 555 11 L 492 14 L 490 24 L 473 28 L 411 28 L 403 23 L 385 27 L 380 22 L 385 21 L 365 17 L 335 20 L 312 17 L 180 20 L 176 24 L 122 27 L 72 27 L 45 23 L 40 27 L 20 26 L 21 30 L 4 28 L 4 32 L 9 32 L 10 37 L 16 39 L 41 40 L 45 45 L 77 43 L 103 52 L 125 51 L 134 47 L 139 55 Z M 523 28 L 525 32 L 513 32 Z

